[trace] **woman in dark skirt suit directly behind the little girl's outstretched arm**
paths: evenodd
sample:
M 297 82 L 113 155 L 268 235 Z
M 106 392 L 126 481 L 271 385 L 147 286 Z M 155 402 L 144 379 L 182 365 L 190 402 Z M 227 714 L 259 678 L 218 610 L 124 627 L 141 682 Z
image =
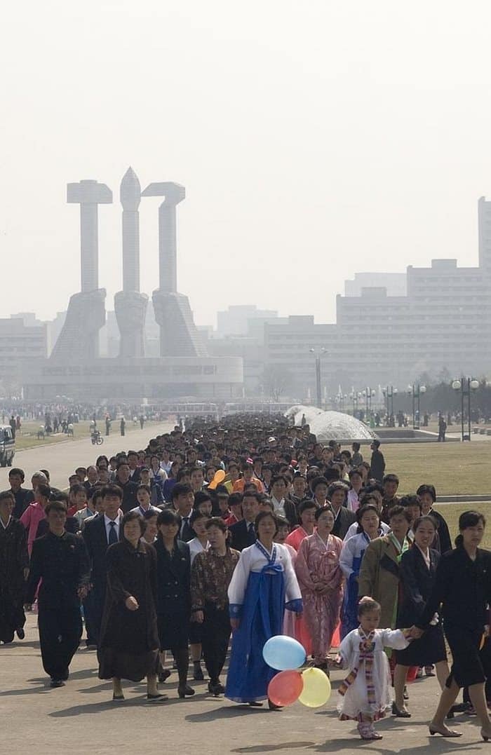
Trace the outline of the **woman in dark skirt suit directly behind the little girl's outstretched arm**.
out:
M 397 613 L 397 629 L 412 627 L 421 618 L 426 602 L 431 595 L 440 553 L 430 547 L 434 541 L 437 524 L 431 516 L 419 516 L 412 525 L 414 543 L 400 559 L 400 577 L 403 597 Z M 392 713 L 400 718 L 410 718 L 411 713 L 404 704 L 404 685 L 410 666 L 430 666 L 435 664 L 440 687 L 443 689 L 449 676 L 446 663 L 445 640 L 440 621 L 434 624 L 421 639 L 414 639 L 404 650 L 396 651 L 394 670 L 395 701 Z

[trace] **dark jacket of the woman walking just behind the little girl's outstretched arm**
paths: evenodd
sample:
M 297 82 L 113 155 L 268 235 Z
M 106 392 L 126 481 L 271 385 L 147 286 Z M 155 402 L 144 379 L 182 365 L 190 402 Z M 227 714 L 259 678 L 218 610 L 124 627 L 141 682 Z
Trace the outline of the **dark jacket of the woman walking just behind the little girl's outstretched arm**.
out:
M 430 548 L 430 569 L 416 545 L 400 559 L 403 599 L 397 615 L 397 627 L 412 627 L 421 617 L 434 585 L 440 553 Z

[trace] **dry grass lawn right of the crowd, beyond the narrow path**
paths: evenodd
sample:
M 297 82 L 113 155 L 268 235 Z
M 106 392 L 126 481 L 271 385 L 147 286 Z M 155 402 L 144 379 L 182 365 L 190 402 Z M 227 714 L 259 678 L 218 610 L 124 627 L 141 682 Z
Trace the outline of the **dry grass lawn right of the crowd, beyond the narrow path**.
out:
M 382 442 L 381 451 L 385 471 L 399 476 L 401 493 L 415 492 L 426 482 L 437 488 L 437 495 L 491 494 L 490 442 L 388 445 Z M 366 451 L 364 456 L 369 461 Z

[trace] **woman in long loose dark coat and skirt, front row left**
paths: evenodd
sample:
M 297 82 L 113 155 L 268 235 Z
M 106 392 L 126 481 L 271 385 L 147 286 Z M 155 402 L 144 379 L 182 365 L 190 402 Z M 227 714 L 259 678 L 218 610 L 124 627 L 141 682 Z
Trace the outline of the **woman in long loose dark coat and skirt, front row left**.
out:
M 113 680 L 113 700 L 124 700 L 122 679 L 147 676 L 147 700 L 161 702 L 157 689 L 159 636 L 156 616 L 156 553 L 141 535 L 143 516 L 128 511 L 121 541 L 107 549 L 107 593 L 100 644 L 99 678 Z

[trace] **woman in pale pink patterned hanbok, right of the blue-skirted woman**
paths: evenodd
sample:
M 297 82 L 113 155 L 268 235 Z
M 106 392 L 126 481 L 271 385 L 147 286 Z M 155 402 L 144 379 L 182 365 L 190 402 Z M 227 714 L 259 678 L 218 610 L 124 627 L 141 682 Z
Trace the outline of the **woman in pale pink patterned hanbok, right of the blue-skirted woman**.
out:
M 317 529 L 301 541 L 295 572 L 304 600 L 304 618 L 312 638 L 313 661 L 327 671 L 327 654 L 339 622 L 343 574 L 339 566 L 342 541 L 331 535 L 334 514 L 323 506 L 315 514 Z

